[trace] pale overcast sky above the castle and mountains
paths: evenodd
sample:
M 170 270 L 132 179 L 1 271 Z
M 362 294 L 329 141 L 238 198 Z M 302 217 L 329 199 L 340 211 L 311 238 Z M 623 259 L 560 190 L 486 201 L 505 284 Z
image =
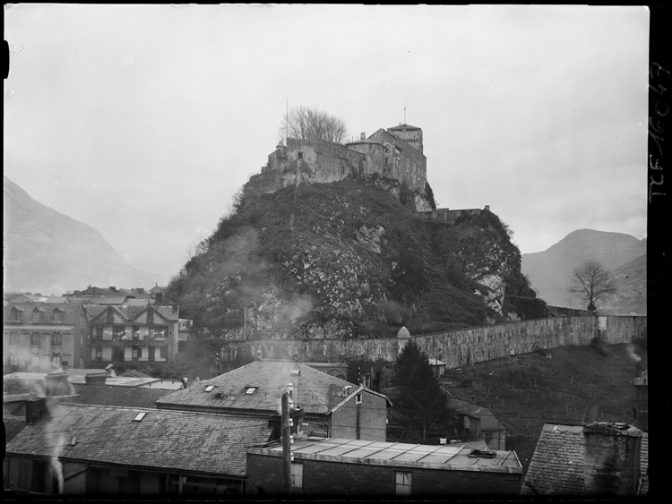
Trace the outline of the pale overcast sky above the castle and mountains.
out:
M 4 6 L 4 175 L 177 274 L 317 107 L 423 130 L 437 207 L 486 205 L 522 253 L 646 235 L 643 6 Z

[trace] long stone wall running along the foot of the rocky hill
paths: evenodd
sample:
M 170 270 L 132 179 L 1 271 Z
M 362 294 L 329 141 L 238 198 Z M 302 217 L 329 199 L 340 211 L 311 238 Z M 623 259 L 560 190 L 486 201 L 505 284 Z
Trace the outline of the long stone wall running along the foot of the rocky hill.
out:
M 453 330 L 412 337 L 431 357 L 446 368 L 525 354 L 556 346 L 587 346 L 593 337 L 611 345 L 646 339 L 647 322 L 642 316 L 549 317 Z M 605 329 L 599 329 L 600 326 Z M 261 349 L 265 358 L 296 358 L 302 362 L 337 363 L 367 357 L 394 362 L 405 339 L 272 339 L 231 341 L 221 349 L 221 360 L 233 367 L 254 360 Z

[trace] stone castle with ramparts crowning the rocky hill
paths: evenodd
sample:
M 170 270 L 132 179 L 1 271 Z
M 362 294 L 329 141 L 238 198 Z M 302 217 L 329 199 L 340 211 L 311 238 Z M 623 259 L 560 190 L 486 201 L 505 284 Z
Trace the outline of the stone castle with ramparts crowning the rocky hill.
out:
M 368 138 L 361 133 L 358 141 L 345 145 L 297 138 L 280 141 L 262 168 L 262 175 L 276 182 L 263 192 L 290 184 L 329 183 L 350 175 L 373 174 L 398 180 L 425 196 L 427 175 L 422 130 L 400 124 L 387 130 L 381 128 Z M 278 183 L 280 187 L 273 188 Z

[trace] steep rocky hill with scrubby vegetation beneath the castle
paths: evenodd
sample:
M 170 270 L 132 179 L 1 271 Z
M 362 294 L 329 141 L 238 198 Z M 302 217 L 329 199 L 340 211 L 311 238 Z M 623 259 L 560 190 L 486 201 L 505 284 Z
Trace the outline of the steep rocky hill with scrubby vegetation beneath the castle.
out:
M 495 214 L 426 225 L 412 194 L 377 177 L 254 197 L 168 287 L 201 328 L 229 338 L 393 336 L 544 316 Z

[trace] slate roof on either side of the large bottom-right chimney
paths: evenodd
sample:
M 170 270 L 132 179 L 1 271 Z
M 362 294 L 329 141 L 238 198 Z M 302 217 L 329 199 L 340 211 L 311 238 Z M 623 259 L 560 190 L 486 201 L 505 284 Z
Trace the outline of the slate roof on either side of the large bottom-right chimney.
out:
M 530 461 L 521 495 L 582 495 L 583 449 L 582 425 L 544 424 L 537 448 Z M 646 474 L 649 466 L 648 434 L 642 432 L 640 468 Z M 642 494 L 648 490 L 642 486 Z

